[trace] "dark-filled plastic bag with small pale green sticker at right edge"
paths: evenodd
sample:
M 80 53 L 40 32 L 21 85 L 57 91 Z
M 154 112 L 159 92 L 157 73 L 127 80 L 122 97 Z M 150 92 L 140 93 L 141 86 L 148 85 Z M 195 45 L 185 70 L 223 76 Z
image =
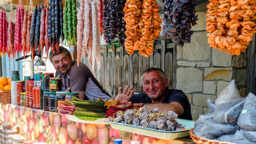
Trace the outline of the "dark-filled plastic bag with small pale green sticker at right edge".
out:
M 256 96 L 249 93 L 237 124 L 244 130 L 256 130 Z

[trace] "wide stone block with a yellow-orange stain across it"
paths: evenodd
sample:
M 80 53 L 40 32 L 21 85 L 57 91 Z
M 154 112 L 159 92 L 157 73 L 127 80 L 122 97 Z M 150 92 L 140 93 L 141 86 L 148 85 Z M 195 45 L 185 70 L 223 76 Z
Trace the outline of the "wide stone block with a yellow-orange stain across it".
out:
M 232 72 L 232 68 L 205 68 L 204 79 L 231 81 Z

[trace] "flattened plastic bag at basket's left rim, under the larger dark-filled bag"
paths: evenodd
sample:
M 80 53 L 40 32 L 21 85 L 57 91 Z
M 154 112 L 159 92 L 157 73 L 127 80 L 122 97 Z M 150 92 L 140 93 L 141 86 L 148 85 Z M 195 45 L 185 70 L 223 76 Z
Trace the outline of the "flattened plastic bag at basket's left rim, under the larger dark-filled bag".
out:
M 234 134 L 239 129 L 238 125 L 221 124 L 212 119 L 203 121 L 203 124 L 200 136 L 207 139 L 214 139 L 223 134 Z

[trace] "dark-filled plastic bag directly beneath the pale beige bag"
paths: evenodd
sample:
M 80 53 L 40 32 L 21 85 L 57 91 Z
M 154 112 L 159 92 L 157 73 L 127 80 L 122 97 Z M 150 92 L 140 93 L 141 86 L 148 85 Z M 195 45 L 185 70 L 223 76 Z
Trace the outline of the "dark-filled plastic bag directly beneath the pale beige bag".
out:
M 244 102 L 245 98 L 240 98 L 220 104 L 214 112 L 214 120 L 218 123 L 237 124 Z

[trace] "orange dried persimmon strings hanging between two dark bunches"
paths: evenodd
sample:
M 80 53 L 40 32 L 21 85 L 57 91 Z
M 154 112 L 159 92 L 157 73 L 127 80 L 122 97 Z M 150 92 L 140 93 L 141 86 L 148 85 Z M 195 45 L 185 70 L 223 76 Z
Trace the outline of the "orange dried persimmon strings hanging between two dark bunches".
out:
M 158 38 L 162 23 L 158 7 L 155 0 L 127 0 L 124 8 L 125 48 L 129 54 L 138 49 L 144 57 L 153 54 L 154 39 Z

